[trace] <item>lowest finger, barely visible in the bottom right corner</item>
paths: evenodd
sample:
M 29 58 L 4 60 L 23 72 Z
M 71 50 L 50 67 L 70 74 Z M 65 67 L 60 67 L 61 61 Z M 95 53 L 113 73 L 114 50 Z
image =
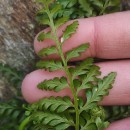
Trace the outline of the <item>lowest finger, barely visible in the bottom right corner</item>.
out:
M 130 130 L 130 118 L 112 123 L 106 130 Z

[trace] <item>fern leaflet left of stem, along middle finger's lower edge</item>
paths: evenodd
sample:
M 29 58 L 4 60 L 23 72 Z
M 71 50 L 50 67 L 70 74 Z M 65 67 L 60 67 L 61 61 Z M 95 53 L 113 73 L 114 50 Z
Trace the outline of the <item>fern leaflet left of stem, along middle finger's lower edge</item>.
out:
M 52 112 L 62 113 L 68 108 L 74 107 L 69 97 L 50 97 L 40 100 L 31 105 L 31 109 L 35 110 L 50 110 Z

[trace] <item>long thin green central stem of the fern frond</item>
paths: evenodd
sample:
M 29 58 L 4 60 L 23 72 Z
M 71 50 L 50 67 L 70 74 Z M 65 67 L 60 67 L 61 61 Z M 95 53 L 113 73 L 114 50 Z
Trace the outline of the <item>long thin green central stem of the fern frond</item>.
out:
M 75 111 L 76 111 L 76 125 L 75 125 L 75 130 L 79 130 L 78 97 L 77 97 L 76 92 L 75 92 L 75 87 L 74 87 L 74 84 L 73 84 L 73 79 L 72 79 L 72 76 L 71 76 L 71 74 L 69 72 L 67 61 L 66 61 L 66 59 L 64 57 L 64 54 L 62 52 L 62 45 L 59 42 L 59 38 L 58 38 L 57 31 L 56 31 L 56 28 L 55 28 L 55 25 L 54 25 L 53 17 L 51 16 L 51 13 L 50 13 L 49 10 L 47 11 L 47 14 L 48 14 L 48 17 L 50 19 L 50 27 L 51 27 L 53 35 L 54 35 L 54 39 L 55 39 L 55 42 L 56 42 L 56 45 L 57 45 L 58 53 L 59 53 L 59 55 L 60 55 L 60 57 L 62 59 L 66 75 L 67 75 L 67 77 L 69 79 L 69 82 L 70 82 L 70 89 L 72 91 L 72 95 L 73 95 L 73 98 L 74 98 L 74 106 L 75 106 Z

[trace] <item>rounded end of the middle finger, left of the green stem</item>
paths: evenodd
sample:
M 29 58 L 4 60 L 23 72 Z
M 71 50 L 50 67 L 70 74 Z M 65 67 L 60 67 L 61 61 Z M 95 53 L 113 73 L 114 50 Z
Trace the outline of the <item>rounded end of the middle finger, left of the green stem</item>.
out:
M 48 72 L 45 70 L 36 70 L 33 71 L 32 73 L 28 74 L 23 82 L 22 82 L 22 94 L 24 99 L 29 102 L 29 103 L 33 103 L 38 101 L 41 98 L 45 98 L 45 97 L 50 97 L 50 96 L 70 96 L 72 98 L 71 95 L 71 91 L 70 89 L 64 89 L 58 93 L 54 92 L 54 91 L 43 91 L 37 88 L 37 85 L 44 81 L 45 79 L 52 79 L 54 77 L 61 77 L 64 76 L 64 72 L 62 71 L 55 71 L 55 72 Z

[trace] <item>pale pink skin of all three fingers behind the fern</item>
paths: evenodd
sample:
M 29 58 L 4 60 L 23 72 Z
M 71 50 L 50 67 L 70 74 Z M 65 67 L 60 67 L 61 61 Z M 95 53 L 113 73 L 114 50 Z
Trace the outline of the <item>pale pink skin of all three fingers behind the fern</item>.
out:
M 69 39 L 63 47 L 66 52 L 82 43 L 89 42 L 90 49 L 82 54 L 78 59 L 86 57 L 98 57 L 104 59 L 125 59 L 130 58 L 130 11 L 80 19 L 79 28 L 76 34 Z M 69 24 L 69 23 L 67 23 Z M 66 26 L 66 25 L 65 25 Z M 59 36 L 62 33 L 61 27 Z M 38 42 L 37 37 L 34 41 L 36 53 L 48 45 L 54 43 L 50 40 Z M 51 58 L 58 58 L 52 56 Z M 106 96 L 100 103 L 102 105 L 130 105 L 130 60 L 118 60 L 97 63 L 101 67 L 102 76 L 109 72 L 117 72 L 117 77 L 109 96 Z M 43 97 L 65 96 L 72 98 L 71 91 L 65 89 L 60 93 L 42 91 L 37 89 L 37 84 L 44 79 L 50 79 L 55 76 L 65 75 L 62 71 L 47 72 L 36 70 L 28 74 L 22 83 L 22 93 L 29 102 L 36 102 Z M 83 92 L 80 93 L 83 96 Z M 130 118 L 112 123 L 106 130 L 130 130 Z

